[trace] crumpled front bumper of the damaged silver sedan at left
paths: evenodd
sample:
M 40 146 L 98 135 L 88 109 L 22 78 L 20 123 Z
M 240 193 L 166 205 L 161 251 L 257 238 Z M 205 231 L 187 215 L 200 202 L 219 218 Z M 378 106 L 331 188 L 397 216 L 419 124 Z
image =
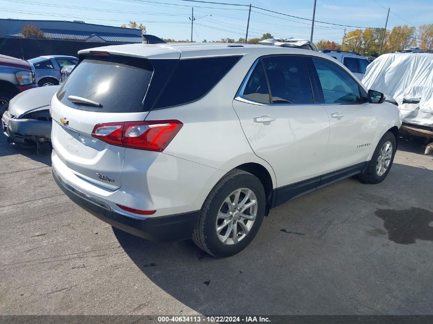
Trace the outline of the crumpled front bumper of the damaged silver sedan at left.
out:
M 9 111 L 2 117 L 2 131 L 11 140 L 25 143 L 32 140 L 34 136 L 51 139 L 51 121 L 36 119 L 16 119 Z

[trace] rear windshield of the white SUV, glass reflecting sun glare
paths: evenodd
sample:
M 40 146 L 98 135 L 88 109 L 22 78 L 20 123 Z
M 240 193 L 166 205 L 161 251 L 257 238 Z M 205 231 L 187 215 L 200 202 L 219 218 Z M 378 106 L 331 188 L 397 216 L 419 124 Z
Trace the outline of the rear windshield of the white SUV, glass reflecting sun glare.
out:
M 57 98 L 65 105 L 86 111 L 134 113 L 143 111 L 143 98 L 152 78 L 147 59 L 128 56 L 89 56 L 78 64 Z M 96 101 L 101 107 L 72 103 L 69 96 Z

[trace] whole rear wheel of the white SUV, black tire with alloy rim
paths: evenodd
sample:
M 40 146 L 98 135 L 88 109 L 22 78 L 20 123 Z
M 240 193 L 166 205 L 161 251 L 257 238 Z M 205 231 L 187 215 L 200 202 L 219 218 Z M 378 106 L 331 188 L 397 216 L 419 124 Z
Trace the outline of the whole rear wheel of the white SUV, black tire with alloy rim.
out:
M 249 172 L 234 169 L 205 200 L 194 228 L 194 243 L 216 257 L 239 253 L 256 236 L 265 202 L 260 180 Z

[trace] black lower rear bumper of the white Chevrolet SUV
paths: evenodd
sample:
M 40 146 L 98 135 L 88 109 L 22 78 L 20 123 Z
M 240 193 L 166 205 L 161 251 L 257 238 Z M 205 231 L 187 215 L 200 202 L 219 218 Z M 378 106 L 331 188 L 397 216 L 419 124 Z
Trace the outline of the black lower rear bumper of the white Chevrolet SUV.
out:
M 150 241 L 188 240 L 192 237 L 198 210 L 141 220 L 134 219 L 113 211 L 104 202 L 68 185 L 60 179 L 54 169 L 53 178 L 73 202 L 113 227 Z

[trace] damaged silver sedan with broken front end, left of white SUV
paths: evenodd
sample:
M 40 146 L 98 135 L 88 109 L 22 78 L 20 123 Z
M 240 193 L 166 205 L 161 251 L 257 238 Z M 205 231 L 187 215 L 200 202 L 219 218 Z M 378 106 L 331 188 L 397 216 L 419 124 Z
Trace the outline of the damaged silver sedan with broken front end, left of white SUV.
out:
M 50 100 L 59 88 L 54 85 L 27 90 L 9 102 L 2 117 L 2 130 L 9 143 L 36 146 L 39 154 L 51 152 Z

